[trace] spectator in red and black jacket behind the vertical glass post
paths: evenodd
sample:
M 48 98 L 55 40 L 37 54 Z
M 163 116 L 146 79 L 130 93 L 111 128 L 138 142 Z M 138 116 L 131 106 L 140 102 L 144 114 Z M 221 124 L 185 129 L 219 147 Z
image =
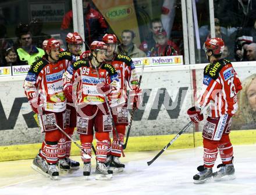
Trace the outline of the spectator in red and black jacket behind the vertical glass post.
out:
M 84 13 L 84 37 L 87 40 L 88 45 L 93 41 L 101 41 L 103 35 L 108 28 L 104 17 L 97 10 L 91 8 L 90 0 L 83 0 L 83 13 Z M 73 12 L 70 10 L 63 17 L 61 30 L 62 39 L 65 40 L 68 32 L 73 31 L 70 28 L 70 24 L 73 21 Z

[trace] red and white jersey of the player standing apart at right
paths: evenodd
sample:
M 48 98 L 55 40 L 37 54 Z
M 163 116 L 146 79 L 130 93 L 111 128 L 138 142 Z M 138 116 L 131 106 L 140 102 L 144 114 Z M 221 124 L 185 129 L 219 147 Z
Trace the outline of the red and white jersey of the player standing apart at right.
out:
M 237 92 L 241 82 L 229 60 L 222 59 L 208 64 L 204 68 L 203 88 L 198 103 L 203 108 L 211 100 L 210 117 L 233 115 L 237 111 Z

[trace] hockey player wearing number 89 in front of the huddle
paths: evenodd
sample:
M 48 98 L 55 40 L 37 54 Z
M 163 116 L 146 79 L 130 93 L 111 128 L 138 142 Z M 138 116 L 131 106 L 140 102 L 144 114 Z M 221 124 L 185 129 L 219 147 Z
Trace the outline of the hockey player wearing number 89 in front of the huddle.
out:
M 64 92 L 67 99 L 77 99 L 77 133 L 80 134 L 81 147 L 91 156 L 91 143 L 95 129 L 96 179 L 110 179 L 113 172 L 106 167 L 105 160 L 112 131 L 111 116 L 105 102 L 105 95 L 119 89 L 115 68 L 105 60 L 107 46 L 104 42 L 94 41 L 90 45 L 89 60 L 77 60 L 63 74 Z M 76 97 L 72 97 L 72 83 L 76 82 Z M 93 129 L 94 128 L 94 129 Z M 91 172 L 91 159 L 84 158 L 83 175 L 88 178 Z

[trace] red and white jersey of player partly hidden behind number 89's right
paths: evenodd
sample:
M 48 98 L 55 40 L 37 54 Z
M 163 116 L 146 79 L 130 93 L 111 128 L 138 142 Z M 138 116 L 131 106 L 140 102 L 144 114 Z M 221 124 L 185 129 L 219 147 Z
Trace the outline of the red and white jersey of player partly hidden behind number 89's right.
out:
M 112 66 L 116 68 L 118 73 L 120 91 L 113 93 L 120 95 L 115 96 L 115 100 L 113 100 L 114 96 L 111 98 L 111 106 L 118 106 L 119 104 L 127 102 L 127 85 L 129 85 L 130 89 L 135 89 L 138 86 L 138 76 L 133 64 L 133 60 L 126 55 L 115 53 L 113 59 L 106 60 L 106 62 L 111 63 Z

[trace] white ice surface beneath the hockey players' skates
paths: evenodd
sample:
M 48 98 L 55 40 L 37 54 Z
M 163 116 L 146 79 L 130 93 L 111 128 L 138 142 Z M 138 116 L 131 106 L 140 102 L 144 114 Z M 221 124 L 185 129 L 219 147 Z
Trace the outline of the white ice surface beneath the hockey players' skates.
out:
M 80 194 L 185 194 L 185 195 L 253 195 L 256 194 L 256 145 L 234 146 L 236 179 L 195 185 L 193 175 L 202 164 L 202 147 L 167 150 L 150 167 L 147 161 L 158 151 L 126 153 L 125 171 L 112 180 L 84 180 L 82 165 L 78 171 L 61 172 L 51 180 L 30 168 L 32 160 L 0 163 L 0 195 L 80 195 Z M 80 161 L 80 157 L 72 157 Z M 220 162 L 219 157 L 216 165 Z

